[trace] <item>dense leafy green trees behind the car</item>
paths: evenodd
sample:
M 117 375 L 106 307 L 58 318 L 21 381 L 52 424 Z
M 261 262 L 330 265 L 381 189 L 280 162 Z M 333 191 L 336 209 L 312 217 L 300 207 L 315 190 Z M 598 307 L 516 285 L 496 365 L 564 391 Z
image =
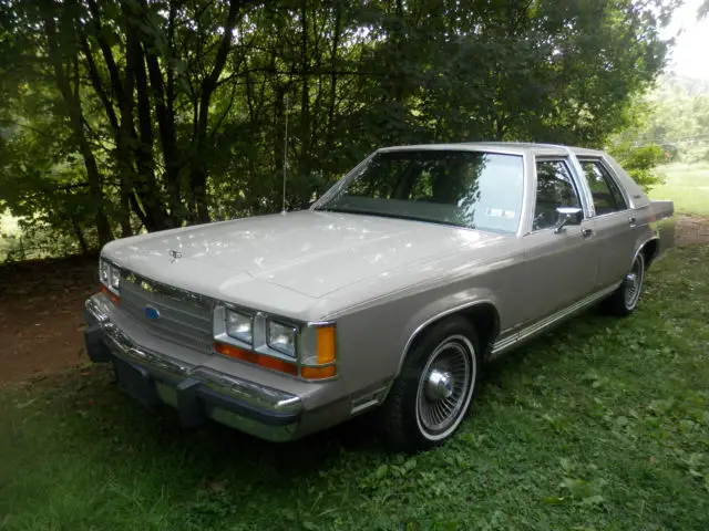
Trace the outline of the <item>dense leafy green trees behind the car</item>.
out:
M 0 210 L 82 248 L 273 212 L 286 119 L 291 209 L 382 145 L 600 146 L 676 3 L 0 0 Z

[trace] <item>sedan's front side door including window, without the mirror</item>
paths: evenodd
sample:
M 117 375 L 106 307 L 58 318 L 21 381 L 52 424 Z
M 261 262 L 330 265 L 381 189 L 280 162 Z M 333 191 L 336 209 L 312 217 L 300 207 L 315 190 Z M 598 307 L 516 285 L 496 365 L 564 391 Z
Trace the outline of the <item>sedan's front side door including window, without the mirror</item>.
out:
M 567 158 L 536 160 L 536 197 L 531 231 L 524 236 L 526 322 L 547 317 L 594 292 L 596 246 L 594 220 L 582 200 L 579 183 Z M 583 208 L 580 226 L 556 232 L 556 208 Z

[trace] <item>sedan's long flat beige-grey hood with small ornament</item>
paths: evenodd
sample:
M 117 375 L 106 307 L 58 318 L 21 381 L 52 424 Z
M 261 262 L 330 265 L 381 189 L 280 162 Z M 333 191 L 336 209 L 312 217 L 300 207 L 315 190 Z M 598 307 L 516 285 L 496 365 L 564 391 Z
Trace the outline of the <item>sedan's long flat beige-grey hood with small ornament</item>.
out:
M 174 229 L 110 243 L 120 266 L 187 288 L 247 279 L 319 299 L 503 237 L 430 222 L 305 210 Z M 201 273 L 199 273 L 201 271 Z

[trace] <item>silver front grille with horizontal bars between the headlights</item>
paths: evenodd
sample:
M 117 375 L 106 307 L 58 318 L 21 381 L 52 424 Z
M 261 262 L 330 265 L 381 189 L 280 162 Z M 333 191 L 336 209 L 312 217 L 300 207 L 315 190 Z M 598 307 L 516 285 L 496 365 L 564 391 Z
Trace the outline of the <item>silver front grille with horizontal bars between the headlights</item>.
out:
M 214 302 L 209 298 L 127 272 L 121 279 L 121 308 L 161 340 L 212 352 Z M 157 319 L 148 319 L 152 310 L 158 312 Z

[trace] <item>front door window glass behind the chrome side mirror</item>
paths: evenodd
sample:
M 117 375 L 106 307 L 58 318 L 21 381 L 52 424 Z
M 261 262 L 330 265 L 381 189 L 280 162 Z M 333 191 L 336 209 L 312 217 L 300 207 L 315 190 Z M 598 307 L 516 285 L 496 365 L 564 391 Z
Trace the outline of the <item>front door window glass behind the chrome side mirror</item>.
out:
M 568 166 L 563 160 L 536 163 L 536 202 L 532 230 L 554 227 L 558 207 L 580 208 L 578 192 Z

